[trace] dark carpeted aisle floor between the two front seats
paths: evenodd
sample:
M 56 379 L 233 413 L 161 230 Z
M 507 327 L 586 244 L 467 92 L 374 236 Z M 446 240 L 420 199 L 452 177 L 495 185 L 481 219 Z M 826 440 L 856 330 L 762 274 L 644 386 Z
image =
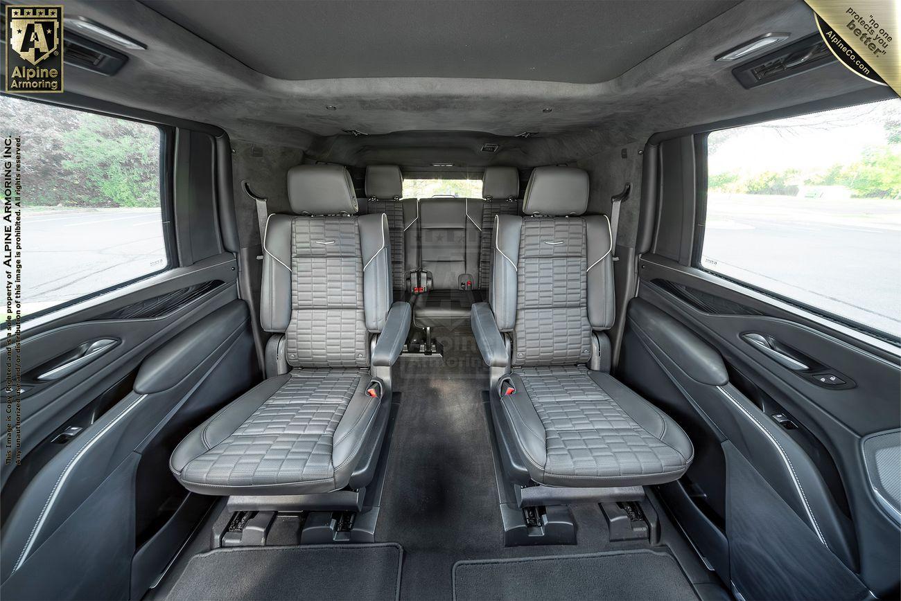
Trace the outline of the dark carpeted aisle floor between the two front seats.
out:
M 397 416 L 376 538 L 405 549 L 401 597 L 451 598 L 456 561 L 605 552 L 647 547 L 609 543 L 596 504 L 572 506 L 578 545 L 506 548 L 481 390 L 487 389 L 469 325 L 435 330 L 444 358 L 402 356 Z

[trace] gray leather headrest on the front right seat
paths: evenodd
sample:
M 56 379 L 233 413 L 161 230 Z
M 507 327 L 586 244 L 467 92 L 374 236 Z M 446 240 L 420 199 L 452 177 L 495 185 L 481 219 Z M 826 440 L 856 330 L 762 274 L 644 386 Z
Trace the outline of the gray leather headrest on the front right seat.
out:
M 588 174 L 576 167 L 535 167 L 525 187 L 523 215 L 581 215 L 588 208 Z

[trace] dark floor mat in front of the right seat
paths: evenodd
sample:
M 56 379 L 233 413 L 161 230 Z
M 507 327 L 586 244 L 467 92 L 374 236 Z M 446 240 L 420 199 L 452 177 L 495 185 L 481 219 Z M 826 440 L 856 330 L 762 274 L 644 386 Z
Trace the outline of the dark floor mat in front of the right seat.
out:
M 466 599 L 696 599 L 665 553 L 625 551 L 458 561 L 454 601 Z

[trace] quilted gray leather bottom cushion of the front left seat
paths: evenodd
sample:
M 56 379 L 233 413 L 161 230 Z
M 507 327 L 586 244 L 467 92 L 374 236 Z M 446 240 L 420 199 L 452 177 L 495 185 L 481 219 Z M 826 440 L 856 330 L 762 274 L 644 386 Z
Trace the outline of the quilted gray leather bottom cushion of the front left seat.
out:
M 269 378 L 188 435 L 171 468 L 187 489 L 206 494 L 340 489 L 378 409 L 368 383 L 369 373 L 355 369 Z

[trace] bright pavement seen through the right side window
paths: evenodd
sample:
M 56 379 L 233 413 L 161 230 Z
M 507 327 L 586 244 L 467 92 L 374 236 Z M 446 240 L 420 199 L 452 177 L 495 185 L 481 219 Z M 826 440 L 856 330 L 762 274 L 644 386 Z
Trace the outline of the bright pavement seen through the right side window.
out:
M 901 336 L 901 201 L 713 195 L 707 269 Z

